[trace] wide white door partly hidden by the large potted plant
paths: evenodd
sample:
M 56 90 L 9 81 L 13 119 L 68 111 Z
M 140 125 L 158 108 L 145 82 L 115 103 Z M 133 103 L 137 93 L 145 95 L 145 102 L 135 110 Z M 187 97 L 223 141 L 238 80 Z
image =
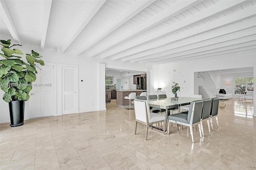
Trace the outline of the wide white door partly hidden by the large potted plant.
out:
M 46 63 L 38 69 L 30 92 L 30 118 L 57 115 L 56 66 Z

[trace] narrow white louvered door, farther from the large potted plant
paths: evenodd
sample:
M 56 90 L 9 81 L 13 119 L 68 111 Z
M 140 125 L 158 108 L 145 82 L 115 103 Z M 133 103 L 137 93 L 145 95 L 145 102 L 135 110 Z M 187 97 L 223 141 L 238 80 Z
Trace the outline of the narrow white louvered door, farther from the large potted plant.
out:
M 78 113 L 78 66 L 62 66 L 62 115 Z

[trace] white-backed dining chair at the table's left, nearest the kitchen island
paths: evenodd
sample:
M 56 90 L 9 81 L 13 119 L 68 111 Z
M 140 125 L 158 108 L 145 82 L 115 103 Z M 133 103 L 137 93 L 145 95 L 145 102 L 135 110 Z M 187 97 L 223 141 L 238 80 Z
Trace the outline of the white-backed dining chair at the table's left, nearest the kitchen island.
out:
M 135 112 L 135 132 L 137 130 L 137 124 L 142 123 L 146 125 L 146 140 L 148 138 L 148 127 L 149 125 L 165 122 L 165 116 L 157 113 L 150 113 L 148 102 L 146 100 L 134 100 L 134 112 Z M 163 125 L 165 133 L 165 125 Z

